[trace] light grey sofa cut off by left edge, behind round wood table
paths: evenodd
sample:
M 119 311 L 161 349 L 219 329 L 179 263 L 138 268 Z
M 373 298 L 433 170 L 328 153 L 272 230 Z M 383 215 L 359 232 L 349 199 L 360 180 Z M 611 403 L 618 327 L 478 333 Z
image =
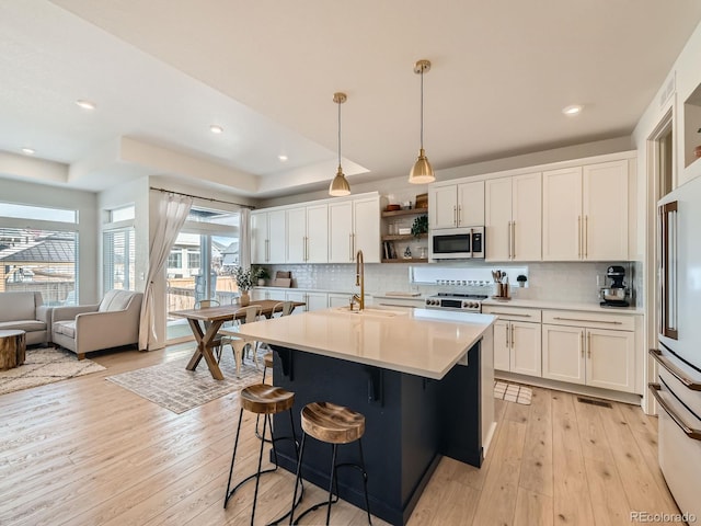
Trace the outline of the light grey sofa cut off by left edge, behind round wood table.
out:
M 26 332 L 26 344 L 46 344 L 50 336 L 51 307 L 44 305 L 42 293 L 0 293 L 0 331 Z

